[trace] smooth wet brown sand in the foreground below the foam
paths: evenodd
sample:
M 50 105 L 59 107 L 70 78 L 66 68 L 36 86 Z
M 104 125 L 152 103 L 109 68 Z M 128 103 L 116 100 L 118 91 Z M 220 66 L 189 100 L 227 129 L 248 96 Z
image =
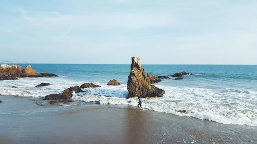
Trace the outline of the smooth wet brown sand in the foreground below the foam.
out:
M 256 143 L 256 127 L 124 105 L 39 106 L 0 95 L 0 143 Z

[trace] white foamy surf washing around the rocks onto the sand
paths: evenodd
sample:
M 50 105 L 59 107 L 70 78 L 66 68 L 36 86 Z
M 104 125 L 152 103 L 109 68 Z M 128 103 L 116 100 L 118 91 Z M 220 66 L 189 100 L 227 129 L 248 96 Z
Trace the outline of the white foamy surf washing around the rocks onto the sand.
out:
M 47 87 L 35 87 L 40 83 L 50 83 Z M 0 93 L 19 96 L 45 96 L 59 93 L 70 86 L 88 81 L 70 80 L 63 77 L 20 78 L 19 80 L 4 80 L 0 82 Z M 90 81 L 89 81 L 90 82 Z M 126 85 L 86 88 L 83 93 L 72 98 L 98 104 L 137 106 L 137 98 L 128 98 Z M 12 88 L 15 86 L 17 88 Z M 165 90 L 161 98 L 144 98 L 142 107 L 158 112 L 191 116 L 207 119 L 223 124 L 237 124 L 257 127 L 257 92 L 229 88 L 207 89 L 198 87 L 175 87 L 164 83 L 156 85 Z M 185 110 L 185 112 L 181 112 Z

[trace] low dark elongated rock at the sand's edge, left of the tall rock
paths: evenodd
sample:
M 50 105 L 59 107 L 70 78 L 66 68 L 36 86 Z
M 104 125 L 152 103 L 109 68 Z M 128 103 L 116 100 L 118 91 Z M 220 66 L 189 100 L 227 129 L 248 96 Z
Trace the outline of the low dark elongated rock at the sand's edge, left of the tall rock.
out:
M 64 90 L 62 93 L 46 95 L 44 100 L 69 99 L 72 97 L 72 92 L 79 93 L 83 91 L 80 89 L 79 86 L 74 86 Z

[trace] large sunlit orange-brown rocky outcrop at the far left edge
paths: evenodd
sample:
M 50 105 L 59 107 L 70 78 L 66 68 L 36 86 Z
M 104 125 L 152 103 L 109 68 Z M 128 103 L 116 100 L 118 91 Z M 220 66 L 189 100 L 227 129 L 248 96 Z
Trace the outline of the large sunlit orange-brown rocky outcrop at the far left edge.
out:
M 0 66 L 0 80 L 17 79 L 17 77 L 43 77 L 43 76 L 57 76 L 52 73 L 37 73 L 31 66 L 26 66 L 22 69 L 19 65 Z

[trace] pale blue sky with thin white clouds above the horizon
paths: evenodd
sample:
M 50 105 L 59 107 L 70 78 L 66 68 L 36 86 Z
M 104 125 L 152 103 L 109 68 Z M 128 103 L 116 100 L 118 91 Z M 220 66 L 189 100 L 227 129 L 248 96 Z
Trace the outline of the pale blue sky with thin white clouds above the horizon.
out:
M 257 1 L 9 1 L 0 60 L 257 64 Z

